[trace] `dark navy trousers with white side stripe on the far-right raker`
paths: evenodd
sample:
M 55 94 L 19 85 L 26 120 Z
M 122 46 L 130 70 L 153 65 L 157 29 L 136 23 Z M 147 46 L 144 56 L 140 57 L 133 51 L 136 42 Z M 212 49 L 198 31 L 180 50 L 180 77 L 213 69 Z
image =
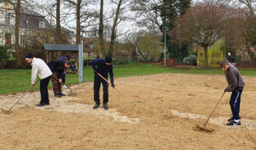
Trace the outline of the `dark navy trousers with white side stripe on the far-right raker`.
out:
M 241 92 L 242 90 L 234 90 L 230 97 L 230 108 L 234 119 L 239 119 Z

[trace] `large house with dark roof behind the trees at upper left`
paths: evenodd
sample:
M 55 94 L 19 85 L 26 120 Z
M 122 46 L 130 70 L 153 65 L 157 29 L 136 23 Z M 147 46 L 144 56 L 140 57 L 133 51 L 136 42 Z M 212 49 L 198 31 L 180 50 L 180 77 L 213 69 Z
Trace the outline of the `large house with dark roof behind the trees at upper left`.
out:
M 43 43 L 55 43 L 55 26 L 44 15 L 25 7 L 20 8 L 20 47 L 32 47 Z M 64 43 L 74 44 L 76 34 L 61 27 Z M 15 11 L 12 5 L 0 3 L 0 44 L 15 44 Z

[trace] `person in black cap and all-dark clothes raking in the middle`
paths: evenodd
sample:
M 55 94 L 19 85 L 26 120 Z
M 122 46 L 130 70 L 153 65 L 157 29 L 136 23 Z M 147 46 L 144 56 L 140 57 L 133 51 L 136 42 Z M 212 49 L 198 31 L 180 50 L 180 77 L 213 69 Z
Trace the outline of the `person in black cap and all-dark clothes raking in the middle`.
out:
M 94 70 L 94 101 L 96 105 L 93 109 L 100 107 L 99 92 L 101 88 L 101 83 L 103 85 L 103 108 L 108 110 L 108 83 L 102 79 L 97 73 L 101 74 L 103 78 L 108 79 L 108 72 L 110 75 L 111 86 L 114 88 L 113 84 L 113 66 L 112 58 L 110 56 L 105 59 L 95 59 L 91 60 L 91 66 Z

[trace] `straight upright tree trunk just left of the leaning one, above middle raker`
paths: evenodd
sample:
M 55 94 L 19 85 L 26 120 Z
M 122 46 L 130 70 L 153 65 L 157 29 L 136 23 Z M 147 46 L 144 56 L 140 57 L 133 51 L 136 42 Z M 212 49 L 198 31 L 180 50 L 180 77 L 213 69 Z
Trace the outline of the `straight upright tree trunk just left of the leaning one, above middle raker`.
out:
M 104 8 L 104 0 L 101 0 L 101 10 L 100 10 L 100 25 L 99 25 L 99 38 L 100 38 L 100 47 L 101 47 L 101 52 L 102 55 L 105 56 L 106 52 L 105 52 L 105 43 L 104 43 L 104 38 L 103 38 L 103 30 L 104 30 L 104 26 L 103 26 L 103 8 Z

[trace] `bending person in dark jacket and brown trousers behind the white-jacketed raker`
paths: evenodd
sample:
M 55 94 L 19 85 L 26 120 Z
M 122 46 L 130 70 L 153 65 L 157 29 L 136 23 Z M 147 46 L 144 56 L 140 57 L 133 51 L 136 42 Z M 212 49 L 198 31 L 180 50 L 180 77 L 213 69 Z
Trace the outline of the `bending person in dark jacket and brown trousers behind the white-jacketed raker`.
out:
M 71 62 L 49 61 L 47 65 L 52 72 L 51 82 L 53 84 L 53 91 L 55 93 L 55 97 L 61 97 L 61 95 L 64 95 L 61 92 L 62 74 L 66 71 L 68 67 L 71 66 Z

